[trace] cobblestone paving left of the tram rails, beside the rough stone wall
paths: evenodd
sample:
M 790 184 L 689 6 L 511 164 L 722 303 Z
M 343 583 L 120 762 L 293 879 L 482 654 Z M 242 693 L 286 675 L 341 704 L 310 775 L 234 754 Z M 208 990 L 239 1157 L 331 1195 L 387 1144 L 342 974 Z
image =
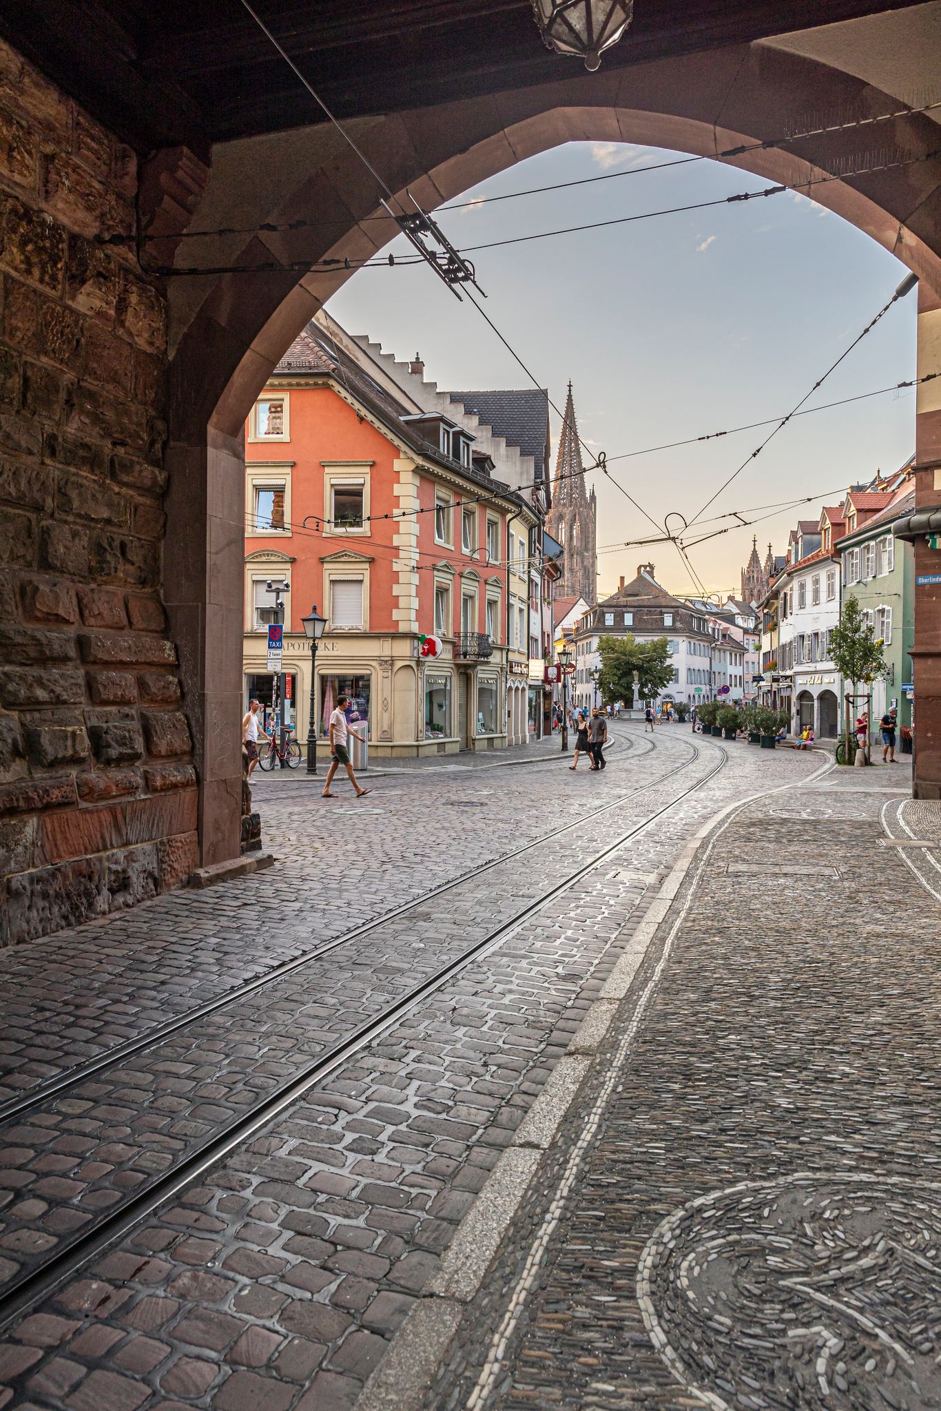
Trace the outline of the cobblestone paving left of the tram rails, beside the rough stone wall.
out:
M 550 766 L 490 772 L 499 785 L 485 796 L 485 827 L 478 810 L 449 810 L 446 828 L 429 818 L 429 794 L 442 803 L 470 797 L 464 766 L 399 787 L 377 780 L 370 803 L 381 813 L 360 821 L 347 811 L 351 790 L 322 801 L 322 780 L 255 772 L 275 868 L 202 893 L 172 892 L 4 952 L 0 1103 L 540 837 L 549 804 L 554 825 L 573 821 L 597 807 L 602 787 L 614 794 L 635 777 L 628 746 L 646 753 L 625 731 L 617 780 L 580 775 L 577 790 L 560 792 Z M 327 865 L 332 838 L 350 828 L 354 845 L 340 876 Z

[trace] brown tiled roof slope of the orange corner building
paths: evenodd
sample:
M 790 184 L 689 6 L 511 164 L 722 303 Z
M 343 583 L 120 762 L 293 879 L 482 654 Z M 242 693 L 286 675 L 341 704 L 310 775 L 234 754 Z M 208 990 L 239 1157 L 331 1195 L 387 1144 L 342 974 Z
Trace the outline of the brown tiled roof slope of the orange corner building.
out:
M 446 456 L 432 442 L 426 440 L 419 426 L 413 422 L 402 420 L 403 416 L 413 416 L 415 412 L 392 396 L 391 392 L 387 392 L 384 387 L 380 387 L 360 367 L 356 358 L 350 357 L 313 320 L 308 323 L 306 329 L 300 330 L 274 371 L 282 377 L 296 377 L 299 373 L 319 373 L 334 378 L 341 388 L 346 388 L 351 396 L 371 411 L 377 420 L 382 422 L 399 440 L 416 452 L 422 460 L 433 461 L 436 466 L 446 467 L 450 471 L 457 471 L 466 480 L 495 491 L 502 498 L 511 498 L 521 505 L 525 504 L 518 491 L 511 490 L 502 481 L 494 480 L 482 470 L 461 466 L 460 461 Z M 429 415 L 433 416 L 435 413 Z

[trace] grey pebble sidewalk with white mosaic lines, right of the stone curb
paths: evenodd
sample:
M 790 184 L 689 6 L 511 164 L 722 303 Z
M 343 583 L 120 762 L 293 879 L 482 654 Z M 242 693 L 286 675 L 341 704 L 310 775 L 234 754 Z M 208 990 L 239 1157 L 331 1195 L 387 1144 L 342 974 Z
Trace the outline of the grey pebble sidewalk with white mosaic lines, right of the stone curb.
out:
M 941 1405 L 941 806 L 909 783 L 832 770 L 700 848 L 427 1407 Z

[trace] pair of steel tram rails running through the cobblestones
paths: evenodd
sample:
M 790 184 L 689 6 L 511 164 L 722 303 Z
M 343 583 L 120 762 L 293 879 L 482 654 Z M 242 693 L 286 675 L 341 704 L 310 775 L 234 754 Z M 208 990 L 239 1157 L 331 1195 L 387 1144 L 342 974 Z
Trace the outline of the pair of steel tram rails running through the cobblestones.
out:
M 676 775 L 680 769 L 687 769 L 694 765 L 701 758 L 701 751 L 697 745 L 691 745 L 690 759 L 681 765 L 674 766 L 667 773 L 659 776 L 649 783 L 645 783 L 643 790 L 653 789 L 663 783 L 666 779 Z M 89 1260 L 97 1257 L 106 1249 L 111 1247 L 119 1242 L 133 1226 L 135 1226 L 141 1219 L 151 1215 L 155 1209 L 162 1206 L 165 1202 L 174 1199 L 185 1187 L 190 1182 L 203 1177 L 213 1165 L 224 1160 L 230 1153 L 233 1153 L 238 1146 L 251 1140 L 257 1133 L 265 1127 L 269 1122 L 278 1118 L 285 1109 L 292 1103 L 303 1098 L 312 1088 L 322 1084 L 327 1077 L 334 1074 L 344 1064 L 350 1062 L 358 1053 L 374 1043 L 378 1037 L 385 1034 L 392 1029 L 399 1020 L 415 1010 L 426 999 L 440 991 L 453 978 L 460 975 L 473 962 L 485 958 L 491 951 L 504 944 L 515 931 L 519 930 L 526 921 L 536 916 L 543 907 L 546 907 L 553 899 L 559 897 L 563 892 L 578 883 L 597 866 L 605 862 L 614 852 L 622 848 L 632 838 L 645 832 L 648 828 L 655 825 L 666 813 L 674 809 L 679 803 L 687 799 L 691 793 L 701 789 L 710 779 L 712 779 L 725 765 L 728 755 L 722 746 L 715 746 L 720 751 L 720 759 L 707 770 L 701 777 L 693 782 L 688 787 L 683 789 L 673 799 L 655 809 L 643 818 L 638 820 L 626 831 L 621 832 L 614 841 L 605 844 L 600 851 L 595 851 L 593 856 L 571 869 L 552 886 L 542 890 L 535 896 L 525 907 L 518 910 L 512 917 L 499 923 L 499 926 L 488 930 L 471 945 L 461 950 L 460 954 L 451 957 L 443 965 L 437 967 L 432 974 L 426 975 L 418 983 L 412 985 L 402 995 L 387 1003 L 382 1010 L 361 1024 L 357 1024 L 348 1034 L 340 1038 L 337 1043 L 324 1048 L 312 1061 L 306 1062 L 298 1072 L 295 1072 L 288 1081 L 277 1085 L 275 1091 L 265 1095 L 261 1101 L 254 1103 L 248 1110 L 240 1113 L 234 1120 L 221 1125 L 210 1137 L 189 1147 L 185 1154 L 176 1160 L 169 1170 L 155 1175 L 150 1180 L 144 1188 L 140 1188 L 135 1194 L 126 1197 L 117 1208 L 103 1212 L 95 1222 L 92 1229 L 83 1233 L 76 1233 L 68 1242 L 62 1242 L 61 1247 L 48 1257 L 38 1267 L 27 1270 L 21 1278 L 10 1281 L 4 1290 L 3 1298 L 3 1319 L 0 1326 L 6 1326 L 13 1319 L 21 1316 L 25 1311 L 32 1308 L 37 1302 L 45 1298 L 48 1294 L 61 1287 L 78 1268 L 86 1264 Z M 553 830 L 552 832 L 543 835 L 543 838 L 535 842 L 526 844 L 522 848 L 515 849 L 511 854 L 505 854 L 502 858 L 495 859 L 482 869 L 477 869 L 473 875 L 478 876 L 484 871 L 492 871 L 492 868 L 499 866 L 519 855 L 530 851 L 533 847 L 539 847 L 546 838 L 557 837 L 570 831 L 574 827 L 583 827 L 588 817 L 597 817 L 598 814 L 609 813 L 625 801 L 628 796 L 619 796 L 602 809 L 595 810 L 591 816 L 581 816 L 571 824 L 566 824 L 561 828 Z M 463 879 L 464 882 L 467 878 Z M 303 964 L 309 962 L 312 958 L 319 958 L 330 950 L 336 950 L 339 945 L 350 944 L 353 935 L 360 937 L 368 931 L 375 930 L 378 926 L 388 923 L 389 917 L 403 916 L 408 912 L 415 910 L 420 904 L 426 904 L 432 896 L 440 896 L 446 892 L 453 892 L 460 882 L 447 883 L 432 893 L 426 893 L 419 902 L 408 903 L 408 906 L 396 909 L 394 913 L 385 917 L 377 919 L 377 921 L 368 923 L 365 927 L 357 928 L 356 933 L 350 933 L 346 937 L 337 937 L 327 947 L 319 948 L 316 952 L 308 957 L 299 957 L 296 961 L 289 962 L 289 967 L 281 967 L 281 974 L 285 969 L 296 971 Z M 227 1005 L 234 1003 L 237 998 L 248 992 L 255 992 L 261 989 L 265 983 L 271 983 L 275 974 L 262 976 L 261 982 L 251 982 L 248 986 L 240 988 L 238 992 L 230 992 L 221 996 L 217 1002 L 210 1006 L 202 1006 L 198 1012 L 190 1012 L 189 1016 L 179 1016 L 174 1022 L 171 1031 L 178 1031 L 185 1023 L 190 1023 L 193 1015 L 202 1015 L 203 1012 L 217 1012 L 224 1009 Z M 151 1031 L 135 1043 L 133 1051 L 141 1053 L 145 1048 L 152 1048 L 161 1041 L 161 1036 Z M 119 1055 L 111 1053 L 107 1055 L 104 1062 L 99 1062 L 95 1068 L 100 1072 L 103 1067 L 116 1064 Z M 89 1074 L 85 1072 L 83 1077 L 78 1074 L 68 1075 L 71 1078 L 69 1086 L 75 1086 Z M 56 1088 L 51 1096 L 61 1096 L 61 1088 Z M 47 1098 L 49 1094 L 47 1094 Z M 38 1095 L 32 1095 L 31 1109 L 35 1110 L 41 1105 Z M 20 1105 L 20 1115 L 23 1115 L 24 1108 Z

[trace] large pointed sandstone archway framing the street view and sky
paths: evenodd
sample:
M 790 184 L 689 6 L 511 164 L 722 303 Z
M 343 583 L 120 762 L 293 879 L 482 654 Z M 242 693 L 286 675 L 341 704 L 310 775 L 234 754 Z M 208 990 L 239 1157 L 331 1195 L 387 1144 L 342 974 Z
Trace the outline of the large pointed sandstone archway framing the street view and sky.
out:
M 560 66 L 560 80 L 435 109 L 360 119 L 351 131 L 392 189 L 427 207 L 560 143 L 656 144 L 712 155 L 735 145 L 776 145 L 735 158 L 773 182 L 800 186 L 837 174 L 858 138 L 822 134 L 777 141 L 821 126 L 815 114 L 875 116 L 917 102 L 930 87 L 931 47 L 918 25 L 937 6 L 889 11 L 662 59 L 597 75 Z M 900 55 L 906 55 L 903 61 Z M 921 69 L 920 69 L 921 65 Z M 913 157 L 938 147 L 925 114 L 894 120 L 892 138 Z M 941 364 L 941 198 L 937 161 L 814 188 L 828 206 L 920 277 L 920 370 Z M 186 243 L 188 264 L 258 264 L 361 258 L 396 234 L 377 219 L 375 183 L 330 128 L 226 144 L 198 207 L 196 229 L 310 220 L 316 230 Z M 237 214 L 238 219 L 233 219 Z M 178 255 L 178 260 L 182 258 Z M 203 861 L 237 848 L 237 680 L 241 639 L 241 428 L 285 347 L 348 275 L 219 275 L 171 288 L 171 446 L 166 605 L 186 676 L 186 701 L 202 780 Z M 920 389 L 918 505 L 941 498 L 941 394 Z M 937 484 L 935 484 L 937 483 Z M 920 550 L 917 550 L 920 552 Z M 923 729 L 917 789 L 941 796 L 941 591 L 917 610 L 916 693 Z M 927 728 L 925 728 L 927 727 Z

